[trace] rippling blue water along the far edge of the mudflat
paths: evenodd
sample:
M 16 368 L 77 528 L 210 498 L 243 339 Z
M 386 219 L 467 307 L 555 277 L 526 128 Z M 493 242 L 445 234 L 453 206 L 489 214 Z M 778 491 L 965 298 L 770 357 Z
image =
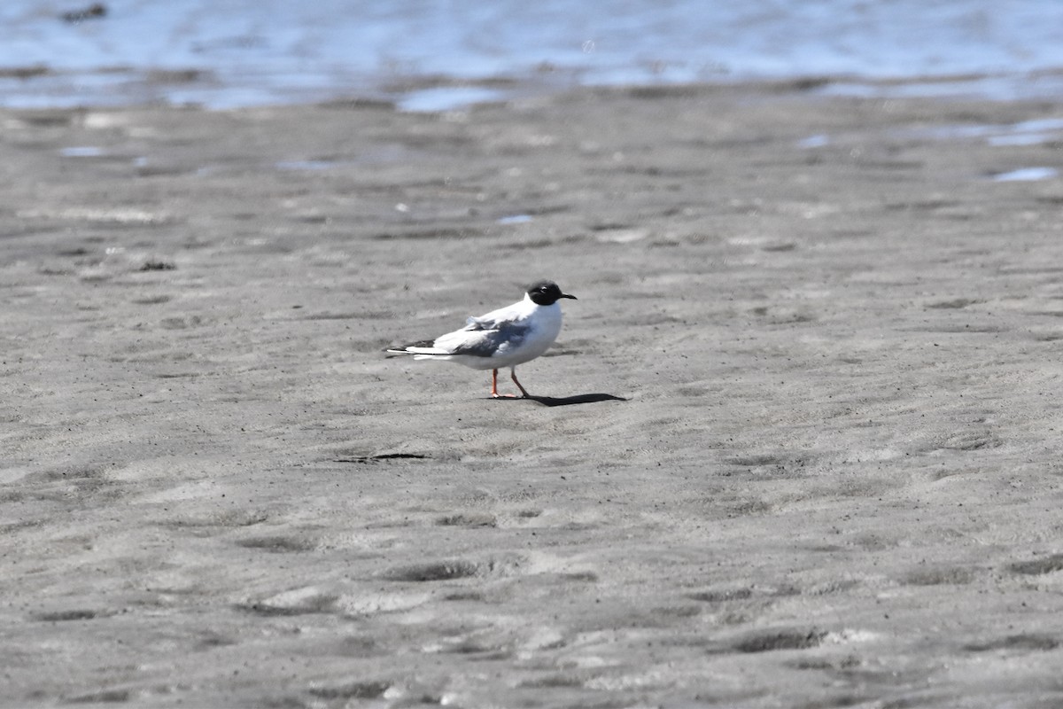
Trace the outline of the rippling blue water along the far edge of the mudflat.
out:
M 89 4 L 0 2 L 0 105 L 433 111 L 532 87 L 809 77 L 857 94 L 1063 89 L 1057 0 L 104 0 L 102 17 L 62 18 Z

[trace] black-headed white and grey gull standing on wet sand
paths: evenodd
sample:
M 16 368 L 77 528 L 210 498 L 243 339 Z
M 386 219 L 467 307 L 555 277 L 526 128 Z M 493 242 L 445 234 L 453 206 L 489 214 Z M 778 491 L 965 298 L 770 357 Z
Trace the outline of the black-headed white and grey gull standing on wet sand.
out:
M 414 359 L 438 359 L 472 369 L 489 369 L 493 399 L 514 398 L 499 393 L 499 370 L 508 367 L 509 376 L 526 399 L 530 394 L 517 378 L 517 366 L 532 361 L 557 339 L 561 332 L 558 301 L 562 298 L 578 300 L 561 292 L 553 281 L 538 281 L 528 286 L 522 300 L 479 317 L 470 317 L 461 330 L 434 340 L 389 348 L 387 352 L 412 355 Z

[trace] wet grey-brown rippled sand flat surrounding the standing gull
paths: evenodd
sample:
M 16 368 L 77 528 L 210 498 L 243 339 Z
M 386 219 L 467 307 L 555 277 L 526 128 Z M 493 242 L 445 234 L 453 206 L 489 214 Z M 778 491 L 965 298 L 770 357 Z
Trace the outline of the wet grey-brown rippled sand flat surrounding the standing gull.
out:
M 0 704 L 1063 703 L 1063 106 L 808 89 L 0 112 Z

